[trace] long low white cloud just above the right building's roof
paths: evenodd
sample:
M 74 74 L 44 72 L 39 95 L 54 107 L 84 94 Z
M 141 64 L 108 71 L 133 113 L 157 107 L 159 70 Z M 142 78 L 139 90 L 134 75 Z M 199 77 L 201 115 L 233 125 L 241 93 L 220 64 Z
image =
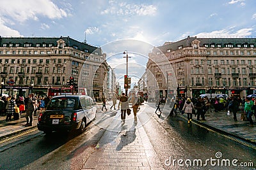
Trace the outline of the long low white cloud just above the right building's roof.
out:
M 231 27 L 229 30 L 222 29 L 212 32 L 200 32 L 196 36 L 250 36 L 252 35 L 252 28 L 244 28 L 234 31 L 234 27 Z

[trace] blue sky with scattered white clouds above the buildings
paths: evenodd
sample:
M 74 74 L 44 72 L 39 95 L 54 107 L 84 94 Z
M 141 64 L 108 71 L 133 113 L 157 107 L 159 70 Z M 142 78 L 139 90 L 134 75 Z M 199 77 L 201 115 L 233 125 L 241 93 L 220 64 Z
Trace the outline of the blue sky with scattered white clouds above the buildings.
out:
M 70 36 L 102 47 L 124 39 L 160 46 L 188 36 L 256 35 L 255 0 L 1 0 L 0 6 L 1 36 Z M 109 63 L 116 66 L 124 50 L 106 50 Z

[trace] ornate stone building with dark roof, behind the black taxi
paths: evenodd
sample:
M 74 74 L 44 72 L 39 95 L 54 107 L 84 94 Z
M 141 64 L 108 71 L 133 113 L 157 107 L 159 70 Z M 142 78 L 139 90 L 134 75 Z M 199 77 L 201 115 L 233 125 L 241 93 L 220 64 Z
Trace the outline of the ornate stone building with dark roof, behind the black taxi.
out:
M 22 89 L 26 87 L 32 87 L 38 95 L 46 95 L 51 87 L 65 87 L 73 76 L 79 87 L 87 89 L 88 95 L 102 97 L 103 89 L 108 89 L 104 83 L 107 71 L 106 54 L 100 48 L 69 36 L 0 36 L 2 88 L 8 90 L 10 85 L 15 85 L 20 88 L 19 96 L 24 96 Z

